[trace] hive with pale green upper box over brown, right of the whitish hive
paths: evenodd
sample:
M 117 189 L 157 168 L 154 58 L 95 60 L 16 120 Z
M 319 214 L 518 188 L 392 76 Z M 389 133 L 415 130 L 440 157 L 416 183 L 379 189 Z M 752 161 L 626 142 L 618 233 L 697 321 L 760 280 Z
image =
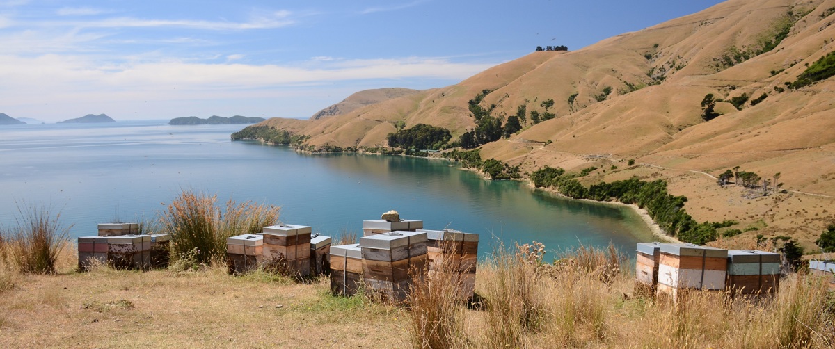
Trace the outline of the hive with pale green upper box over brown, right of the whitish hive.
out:
M 727 288 L 731 295 L 776 294 L 780 254 L 762 250 L 729 250 Z

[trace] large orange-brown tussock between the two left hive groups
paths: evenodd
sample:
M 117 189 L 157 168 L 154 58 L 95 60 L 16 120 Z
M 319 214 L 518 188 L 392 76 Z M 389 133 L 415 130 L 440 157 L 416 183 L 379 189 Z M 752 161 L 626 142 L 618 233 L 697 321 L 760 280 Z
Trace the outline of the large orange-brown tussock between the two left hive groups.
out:
M 172 257 L 194 255 L 195 262 L 210 264 L 222 260 L 226 239 L 241 234 L 256 234 L 278 221 L 279 207 L 251 201 L 217 205 L 217 195 L 195 194 L 184 190 L 161 214 L 163 232 L 171 235 Z

